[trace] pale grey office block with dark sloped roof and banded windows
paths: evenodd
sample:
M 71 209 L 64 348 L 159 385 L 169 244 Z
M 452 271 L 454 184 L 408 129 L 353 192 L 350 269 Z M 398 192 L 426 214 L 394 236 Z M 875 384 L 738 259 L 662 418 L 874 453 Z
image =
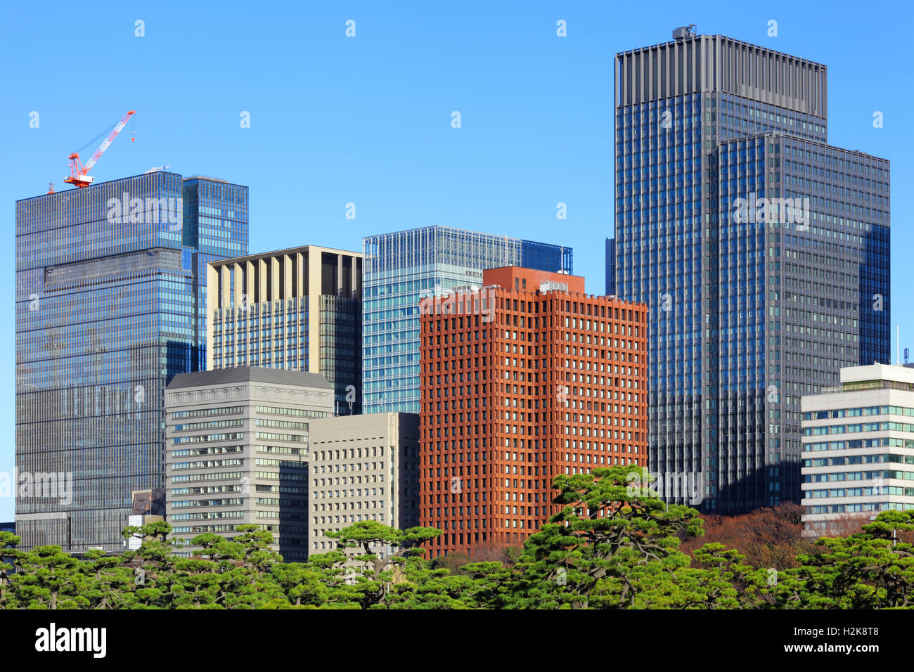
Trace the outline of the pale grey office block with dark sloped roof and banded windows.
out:
M 175 539 L 231 539 L 250 523 L 272 532 L 285 560 L 305 560 L 309 426 L 333 414 L 326 379 L 260 367 L 197 371 L 175 376 L 165 397 L 165 519 Z

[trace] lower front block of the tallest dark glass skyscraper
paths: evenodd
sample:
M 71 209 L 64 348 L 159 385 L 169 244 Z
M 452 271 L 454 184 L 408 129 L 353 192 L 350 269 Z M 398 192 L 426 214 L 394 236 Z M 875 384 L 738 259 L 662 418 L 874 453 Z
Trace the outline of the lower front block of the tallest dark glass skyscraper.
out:
M 874 310 L 888 296 L 888 162 L 781 133 L 722 143 L 712 162 L 719 395 L 708 480 L 726 510 L 770 506 L 800 490 L 802 396 L 836 385 L 842 367 L 888 357 L 887 302 Z M 753 197 L 756 216 L 740 216 L 738 199 Z

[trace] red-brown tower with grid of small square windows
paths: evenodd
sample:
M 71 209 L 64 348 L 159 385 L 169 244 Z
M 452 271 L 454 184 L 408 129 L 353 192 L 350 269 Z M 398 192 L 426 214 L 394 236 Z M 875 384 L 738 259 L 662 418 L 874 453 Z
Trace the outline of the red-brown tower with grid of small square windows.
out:
M 519 546 L 559 474 L 646 465 L 647 306 L 517 267 L 423 300 L 420 523 L 432 555 Z

